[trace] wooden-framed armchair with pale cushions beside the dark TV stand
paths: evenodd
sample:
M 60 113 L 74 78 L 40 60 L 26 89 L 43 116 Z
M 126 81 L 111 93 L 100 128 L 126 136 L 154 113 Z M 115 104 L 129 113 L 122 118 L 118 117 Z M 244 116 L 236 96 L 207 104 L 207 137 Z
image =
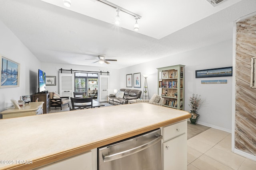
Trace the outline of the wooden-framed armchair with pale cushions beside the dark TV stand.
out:
M 50 92 L 50 107 L 60 107 L 62 110 L 62 106 L 69 105 L 68 101 L 69 97 L 60 97 L 58 93 Z

